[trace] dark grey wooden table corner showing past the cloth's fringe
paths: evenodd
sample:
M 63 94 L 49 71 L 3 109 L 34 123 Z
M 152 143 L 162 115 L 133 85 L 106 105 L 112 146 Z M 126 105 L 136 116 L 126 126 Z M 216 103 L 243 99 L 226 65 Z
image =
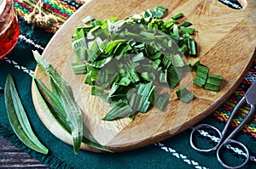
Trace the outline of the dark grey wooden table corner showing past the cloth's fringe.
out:
M 0 168 L 48 168 L 41 161 L 33 159 L 2 137 L 0 137 L 0 143 Z

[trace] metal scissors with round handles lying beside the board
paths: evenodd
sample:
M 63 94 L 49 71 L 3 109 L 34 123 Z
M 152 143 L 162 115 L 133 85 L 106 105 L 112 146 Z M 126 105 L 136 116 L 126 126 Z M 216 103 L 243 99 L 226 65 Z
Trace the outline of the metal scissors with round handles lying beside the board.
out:
M 239 107 L 241 107 L 241 105 L 245 104 L 245 103 L 250 104 L 249 113 L 246 115 L 244 120 L 241 121 L 241 123 L 236 127 L 236 129 L 234 131 L 232 131 L 230 133 L 230 135 L 228 135 L 227 132 L 229 130 L 231 121 L 234 119 L 234 116 L 236 115 L 236 112 L 239 109 Z M 249 121 L 251 119 L 251 117 L 254 114 L 255 106 L 256 106 L 256 82 L 253 82 L 252 86 L 248 88 L 247 93 L 245 93 L 245 95 L 241 98 L 241 100 L 236 104 L 236 107 L 234 108 L 233 112 L 231 113 L 229 120 L 227 121 L 226 125 L 224 126 L 224 130 L 222 132 L 220 132 L 216 127 L 212 127 L 211 125 L 208 125 L 208 124 L 201 124 L 197 127 L 194 127 L 193 131 L 190 134 L 191 147 L 199 152 L 202 152 L 202 153 L 210 153 L 212 151 L 217 150 L 218 162 L 226 168 L 236 169 L 236 168 L 241 168 L 243 166 L 246 166 L 248 161 L 250 160 L 249 151 L 244 144 L 241 144 L 240 142 L 234 140 L 233 137 L 237 134 L 237 132 L 239 132 L 241 130 L 242 127 L 245 126 L 247 121 Z M 208 129 L 211 129 L 218 133 L 218 138 L 219 138 L 218 144 L 216 144 L 211 149 L 201 149 L 201 148 L 198 148 L 198 146 L 195 146 L 195 141 L 193 139 L 194 135 L 195 135 L 195 131 L 199 131 L 202 128 L 208 128 Z M 243 163 L 239 166 L 229 166 L 221 158 L 221 155 L 220 155 L 221 149 L 228 149 L 230 144 L 237 145 L 240 148 L 245 150 L 246 160 L 243 161 Z

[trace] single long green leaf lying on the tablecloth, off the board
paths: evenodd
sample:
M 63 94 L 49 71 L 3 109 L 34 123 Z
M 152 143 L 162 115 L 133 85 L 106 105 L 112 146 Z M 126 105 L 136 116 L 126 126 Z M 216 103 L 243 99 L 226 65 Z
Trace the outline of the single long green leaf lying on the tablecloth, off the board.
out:
M 20 140 L 29 148 L 47 155 L 49 150 L 40 143 L 32 131 L 26 112 L 15 89 L 14 80 L 10 75 L 8 75 L 6 79 L 4 97 L 9 122 L 18 138 L 20 138 Z

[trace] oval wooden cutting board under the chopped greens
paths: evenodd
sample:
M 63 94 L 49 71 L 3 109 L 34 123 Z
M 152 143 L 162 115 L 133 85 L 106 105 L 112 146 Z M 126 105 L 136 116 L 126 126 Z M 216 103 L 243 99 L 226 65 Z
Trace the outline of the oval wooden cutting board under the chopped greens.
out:
M 184 104 L 176 98 L 175 92 L 166 112 L 152 109 L 147 114 L 139 114 L 134 121 L 123 118 L 117 121 L 102 121 L 110 108 L 101 99 L 90 95 L 90 87 L 84 85 L 84 75 L 74 75 L 71 63 L 74 61 L 71 36 L 81 20 L 92 15 L 96 20 L 118 17 L 120 20 L 132 14 L 139 14 L 157 5 L 168 8 L 164 20 L 182 12 L 196 29 L 195 41 L 199 46 L 199 57 L 207 65 L 211 74 L 224 76 L 218 93 L 195 86 L 190 75 L 178 87 L 188 84 L 196 99 Z M 55 33 L 44 50 L 44 58 L 55 67 L 73 88 L 75 99 L 83 110 L 84 124 L 90 128 L 99 143 L 113 151 L 137 149 L 160 140 L 170 138 L 201 121 L 218 108 L 233 93 L 253 61 L 256 47 L 256 1 L 243 0 L 242 10 L 227 7 L 217 0 L 93 0 L 73 14 L 61 29 Z M 48 77 L 40 69 L 35 75 L 49 86 Z M 44 125 L 57 138 L 72 144 L 72 138 L 44 110 L 38 95 L 32 87 L 35 108 Z M 97 151 L 82 144 L 81 149 Z

